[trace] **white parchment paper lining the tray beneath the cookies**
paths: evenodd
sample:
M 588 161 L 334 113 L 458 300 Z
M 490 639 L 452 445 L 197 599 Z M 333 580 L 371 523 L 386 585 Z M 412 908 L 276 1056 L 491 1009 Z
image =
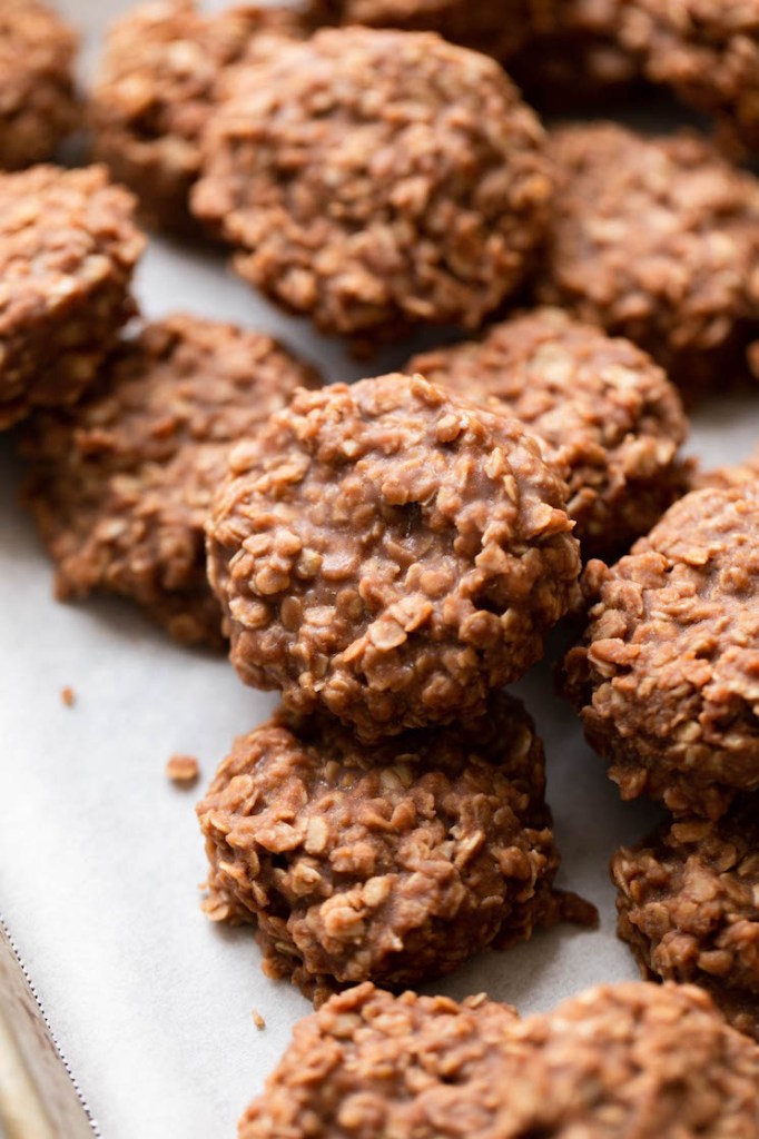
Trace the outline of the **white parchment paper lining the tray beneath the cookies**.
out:
M 82 31 L 125 5 L 64 0 Z M 281 336 L 332 379 L 365 367 L 268 306 L 221 257 L 152 240 L 137 290 L 145 313 L 188 310 Z M 407 346 L 370 366 L 399 366 Z M 703 408 L 691 450 L 748 454 L 759 391 Z M 16 505 L 17 468 L 0 444 L 0 912 L 106 1139 L 223 1139 L 309 1011 L 268 981 L 250 931 L 199 909 L 205 858 L 194 804 L 236 734 L 274 697 L 245 689 L 220 658 L 172 645 L 131 606 L 51 598 L 51 571 Z M 60 689 L 76 694 L 73 708 Z M 548 754 L 548 797 L 564 857 L 561 882 L 601 909 L 595 933 L 562 927 L 481 954 L 430 986 L 488 990 L 522 1011 L 599 981 L 635 977 L 614 936 L 607 861 L 655 811 L 625 805 L 588 751 L 547 669 L 519 686 Z M 165 777 L 174 752 L 197 755 L 202 784 Z M 251 1013 L 266 1019 L 258 1031 Z

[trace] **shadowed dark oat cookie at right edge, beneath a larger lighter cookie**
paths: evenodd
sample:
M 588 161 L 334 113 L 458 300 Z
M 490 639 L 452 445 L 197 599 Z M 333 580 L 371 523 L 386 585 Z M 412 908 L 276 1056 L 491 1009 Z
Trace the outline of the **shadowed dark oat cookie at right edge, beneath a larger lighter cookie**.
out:
M 644 976 L 703 985 L 759 1039 L 759 796 L 683 819 L 612 859 L 618 933 Z

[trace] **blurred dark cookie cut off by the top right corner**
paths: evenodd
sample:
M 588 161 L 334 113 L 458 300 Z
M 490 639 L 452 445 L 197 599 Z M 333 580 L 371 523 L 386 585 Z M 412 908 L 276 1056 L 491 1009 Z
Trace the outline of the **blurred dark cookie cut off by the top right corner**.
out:
M 759 0 L 626 0 L 620 39 L 650 79 L 759 149 Z

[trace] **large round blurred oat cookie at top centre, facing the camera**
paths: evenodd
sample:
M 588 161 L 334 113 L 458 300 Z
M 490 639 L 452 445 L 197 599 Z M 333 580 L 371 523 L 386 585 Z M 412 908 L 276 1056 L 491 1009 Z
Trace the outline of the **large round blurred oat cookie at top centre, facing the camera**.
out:
M 279 304 L 370 338 L 476 327 L 522 284 L 552 178 L 492 59 L 431 33 L 327 28 L 230 88 L 191 205 Z

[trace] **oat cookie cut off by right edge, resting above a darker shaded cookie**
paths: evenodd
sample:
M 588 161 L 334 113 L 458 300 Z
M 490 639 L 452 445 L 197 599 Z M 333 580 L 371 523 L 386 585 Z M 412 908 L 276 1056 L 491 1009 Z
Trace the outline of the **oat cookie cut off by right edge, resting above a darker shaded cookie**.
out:
M 759 788 L 759 493 L 692 491 L 629 556 L 591 562 L 564 682 L 625 798 L 718 818 Z

